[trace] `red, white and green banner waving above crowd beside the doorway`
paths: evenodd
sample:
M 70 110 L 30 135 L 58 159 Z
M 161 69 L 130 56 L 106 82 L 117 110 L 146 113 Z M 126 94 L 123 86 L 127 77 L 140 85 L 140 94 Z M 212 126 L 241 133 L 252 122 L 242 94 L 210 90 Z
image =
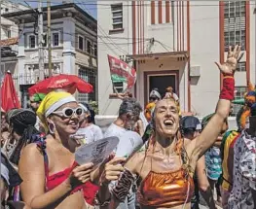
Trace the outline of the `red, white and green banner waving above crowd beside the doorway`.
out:
M 112 83 L 122 82 L 124 92 L 135 85 L 136 82 L 136 70 L 128 63 L 108 55 L 108 62 L 111 74 Z

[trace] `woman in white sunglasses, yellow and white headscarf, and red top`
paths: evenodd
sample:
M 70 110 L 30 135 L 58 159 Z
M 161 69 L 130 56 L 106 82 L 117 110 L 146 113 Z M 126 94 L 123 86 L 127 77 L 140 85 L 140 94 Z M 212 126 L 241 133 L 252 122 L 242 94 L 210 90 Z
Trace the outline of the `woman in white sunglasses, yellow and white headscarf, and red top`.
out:
M 51 92 L 41 102 L 37 115 L 48 134 L 26 146 L 18 164 L 21 196 L 31 208 L 82 209 L 93 203 L 96 191 L 87 186 L 92 163 L 77 165 L 69 143 L 83 114 L 68 92 Z

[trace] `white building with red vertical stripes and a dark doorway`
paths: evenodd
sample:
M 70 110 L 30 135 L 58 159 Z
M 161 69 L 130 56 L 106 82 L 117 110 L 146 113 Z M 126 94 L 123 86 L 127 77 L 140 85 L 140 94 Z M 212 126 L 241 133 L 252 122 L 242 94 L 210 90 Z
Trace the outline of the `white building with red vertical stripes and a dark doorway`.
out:
M 236 98 L 255 85 L 255 5 L 248 1 L 97 1 L 99 114 L 117 115 L 107 54 L 133 64 L 133 95 L 146 105 L 152 88 L 173 87 L 184 112 L 215 110 L 228 46 L 244 55 L 236 74 Z M 122 89 L 122 84 L 114 84 Z M 238 107 L 235 107 L 235 113 Z

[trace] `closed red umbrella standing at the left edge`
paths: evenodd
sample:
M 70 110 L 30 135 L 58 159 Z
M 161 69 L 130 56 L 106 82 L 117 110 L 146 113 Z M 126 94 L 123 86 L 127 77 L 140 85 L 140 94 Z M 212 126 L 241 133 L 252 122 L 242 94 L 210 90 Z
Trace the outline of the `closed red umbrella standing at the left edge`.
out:
M 12 78 L 12 74 L 7 72 L 1 87 L 1 101 L 2 108 L 5 112 L 13 109 L 20 108 L 18 101 L 18 94 Z

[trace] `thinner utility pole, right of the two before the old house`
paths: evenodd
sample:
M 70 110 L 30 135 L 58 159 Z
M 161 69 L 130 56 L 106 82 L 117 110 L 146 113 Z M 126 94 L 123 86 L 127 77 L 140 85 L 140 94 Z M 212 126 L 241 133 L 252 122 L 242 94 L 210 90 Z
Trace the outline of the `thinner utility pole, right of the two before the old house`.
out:
M 48 33 L 48 70 L 49 77 L 53 76 L 52 71 L 52 39 L 51 39 L 51 1 L 47 0 L 47 33 Z

